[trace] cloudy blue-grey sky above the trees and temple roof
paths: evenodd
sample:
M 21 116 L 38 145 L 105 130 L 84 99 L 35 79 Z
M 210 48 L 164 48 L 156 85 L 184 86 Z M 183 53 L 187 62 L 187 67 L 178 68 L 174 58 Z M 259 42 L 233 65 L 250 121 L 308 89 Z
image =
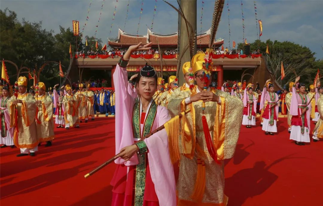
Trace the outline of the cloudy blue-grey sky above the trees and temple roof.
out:
M 202 30 L 206 31 L 211 26 L 214 1 L 203 0 Z M 90 1 L 13 1 L 1 0 L 0 8 L 6 7 L 17 13 L 18 19 L 25 18 L 30 22 L 43 22 L 43 28 L 59 32 L 59 26 L 64 28 L 72 27 L 72 20 L 80 21 L 80 29 L 83 28 L 87 15 L 89 21 L 84 29 L 84 35 L 93 36 L 96 25 L 98 25 L 102 0 L 92 1 L 89 15 Z M 98 25 L 97 37 L 103 43 L 108 42 L 108 37 L 118 35 L 118 26 L 126 33 L 137 34 L 141 0 L 130 0 L 129 15 L 125 25 L 128 0 L 105 0 L 102 14 Z M 176 1 L 169 1 L 176 5 Z M 224 11 L 218 28 L 216 38 L 224 38 L 224 46 L 229 47 L 228 31 L 228 0 L 225 1 Z M 245 38 L 253 42 L 257 38 L 254 1 L 242 1 L 245 19 Z M 292 41 L 309 47 L 317 54 L 318 59 L 323 58 L 323 1 L 256 1 L 257 17 L 263 22 L 262 40 L 271 39 L 278 41 Z M 113 21 L 112 32 L 110 26 L 113 18 L 113 11 L 117 5 L 115 20 Z M 147 34 L 147 26 L 151 26 L 155 1 L 144 0 L 139 34 Z M 153 31 L 160 34 L 171 34 L 177 30 L 177 13 L 169 5 L 157 1 L 156 14 L 154 18 Z M 242 42 L 242 12 L 241 1 L 229 0 L 230 9 L 230 30 L 231 45 Z M 197 32 L 200 33 L 202 0 L 197 1 Z M 259 30 L 259 27 L 258 27 Z M 258 31 L 259 32 L 259 31 Z

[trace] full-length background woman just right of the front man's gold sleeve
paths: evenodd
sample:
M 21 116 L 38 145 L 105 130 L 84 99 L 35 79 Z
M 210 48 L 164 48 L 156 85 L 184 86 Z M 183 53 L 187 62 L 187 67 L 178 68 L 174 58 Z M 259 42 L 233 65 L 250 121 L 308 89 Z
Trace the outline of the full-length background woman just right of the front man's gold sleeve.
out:
M 248 90 L 248 92 L 247 92 Z M 256 125 L 256 106 L 257 99 L 253 95 L 252 87 L 245 88 L 243 97 L 243 118 L 242 125 L 246 125 L 247 128 L 251 128 L 251 125 Z

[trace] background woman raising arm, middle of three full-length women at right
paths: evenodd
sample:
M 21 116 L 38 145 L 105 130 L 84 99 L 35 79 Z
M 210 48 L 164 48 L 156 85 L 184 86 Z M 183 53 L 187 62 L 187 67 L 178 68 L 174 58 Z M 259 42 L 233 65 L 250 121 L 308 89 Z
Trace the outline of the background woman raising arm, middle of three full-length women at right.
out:
M 263 93 L 260 99 L 260 108 L 264 107 L 264 104 L 267 100 L 268 104 L 264 110 L 264 114 L 262 116 L 262 130 L 265 131 L 265 134 L 274 135 L 273 132 L 277 132 L 277 119 L 278 119 L 278 95 L 274 92 L 274 84 L 271 84 L 270 79 L 266 81 L 264 86 Z M 267 91 L 267 83 L 268 91 Z

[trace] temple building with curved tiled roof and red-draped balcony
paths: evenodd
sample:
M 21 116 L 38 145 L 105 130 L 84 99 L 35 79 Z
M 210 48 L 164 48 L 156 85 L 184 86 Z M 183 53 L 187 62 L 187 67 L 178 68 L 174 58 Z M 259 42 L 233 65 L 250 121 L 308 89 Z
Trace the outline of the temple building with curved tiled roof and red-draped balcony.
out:
M 203 52 L 208 48 L 210 40 L 210 30 L 198 35 L 196 38 L 197 51 Z M 129 76 L 138 72 L 146 63 L 154 67 L 157 71 L 160 68 L 160 54 L 158 45 L 163 53 L 163 72 L 174 75 L 177 65 L 178 33 L 161 35 L 152 32 L 147 28 L 147 35 L 127 34 L 119 29 L 118 37 L 108 41 L 108 45 L 116 52 L 111 55 L 91 55 L 86 57 L 74 58 L 68 69 L 68 76 L 71 82 L 82 79 L 88 81 L 98 78 L 105 79 L 108 87 L 114 87 L 113 73 L 118 63 L 122 51 L 126 51 L 130 45 L 144 44 L 152 42 L 151 51 L 132 54 L 130 65 L 127 67 Z M 224 44 L 223 39 L 214 42 L 214 49 L 220 48 Z M 164 53 L 165 51 L 166 54 Z M 214 78 L 217 87 L 221 87 L 227 80 L 246 80 L 248 83 L 257 81 L 259 84 L 265 83 L 265 76 L 268 76 L 265 59 L 261 55 L 213 55 Z M 171 74 L 170 74 L 171 73 Z M 82 78 L 80 78 L 81 76 Z M 74 78 L 73 78 L 74 77 Z M 165 78 L 166 79 L 166 78 Z

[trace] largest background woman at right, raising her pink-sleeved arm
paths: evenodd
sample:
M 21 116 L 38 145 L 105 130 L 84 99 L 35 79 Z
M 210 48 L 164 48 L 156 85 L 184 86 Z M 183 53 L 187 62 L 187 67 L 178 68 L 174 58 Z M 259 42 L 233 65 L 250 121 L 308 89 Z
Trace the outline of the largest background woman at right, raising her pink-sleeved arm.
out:
M 289 114 L 292 115 L 292 129 L 289 139 L 295 140 L 295 144 L 304 145 L 302 142 L 310 142 L 310 114 L 311 104 L 310 98 L 306 95 L 306 88 L 304 83 L 299 83 L 300 77 L 297 77 L 292 88 L 292 100 L 290 102 Z M 296 92 L 296 88 L 299 92 Z

